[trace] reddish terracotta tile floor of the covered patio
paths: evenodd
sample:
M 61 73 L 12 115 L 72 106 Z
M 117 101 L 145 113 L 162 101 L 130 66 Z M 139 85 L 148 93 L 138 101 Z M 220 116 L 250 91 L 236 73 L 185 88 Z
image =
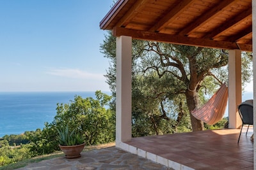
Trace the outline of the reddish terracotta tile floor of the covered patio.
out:
M 125 142 L 192 169 L 253 169 L 253 134 L 250 128 L 187 132 L 132 138 Z

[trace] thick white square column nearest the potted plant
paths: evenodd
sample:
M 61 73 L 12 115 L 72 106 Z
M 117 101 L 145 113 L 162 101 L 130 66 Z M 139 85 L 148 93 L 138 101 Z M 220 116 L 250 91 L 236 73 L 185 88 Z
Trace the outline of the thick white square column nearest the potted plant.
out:
M 116 38 L 116 145 L 132 137 L 132 38 Z

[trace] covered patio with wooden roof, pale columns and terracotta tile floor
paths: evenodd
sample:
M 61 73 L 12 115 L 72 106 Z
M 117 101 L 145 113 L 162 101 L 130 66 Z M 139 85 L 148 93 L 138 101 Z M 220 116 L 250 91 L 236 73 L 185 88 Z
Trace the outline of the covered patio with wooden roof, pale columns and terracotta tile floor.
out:
M 252 39 L 256 32 L 255 17 L 254 0 L 118 0 L 100 22 L 100 29 L 111 30 L 113 36 L 116 36 L 116 147 L 173 169 L 205 169 L 203 159 L 196 155 L 204 155 L 210 162 L 224 161 L 222 163 L 226 166 L 223 169 L 256 169 L 253 164 L 256 152 L 253 152 L 250 138 L 237 145 L 241 126 L 237 111 L 237 106 L 242 102 L 241 52 L 255 50 L 256 46 L 253 48 L 253 45 L 256 42 L 253 43 Z M 229 129 L 218 132 L 189 132 L 179 138 L 177 136 L 180 134 L 132 138 L 132 39 L 228 50 Z M 254 55 L 255 52 L 253 65 L 256 62 Z M 256 84 L 255 69 L 253 73 Z M 255 99 L 255 95 L 253 98 Z M 255 113 L 255 103 L 253 106 Z M 164 149 L 167 145 L 176 152 Z M 197 147 L 193 148 L 195 146 Z M 197 153 L 195 155 L 182 148 Z M 212 151 L 212 148 L 216 150 Z M 180 157 L 177 152 L 191 157 Z M 220 159 L 221 155 L 228 159 Z M 244 157 L 250 161 L 244 160 Z M 206 169 L 222 169 L 216 168 L 215 163 Z M 232 166 L 227 165 L 228 163 Z

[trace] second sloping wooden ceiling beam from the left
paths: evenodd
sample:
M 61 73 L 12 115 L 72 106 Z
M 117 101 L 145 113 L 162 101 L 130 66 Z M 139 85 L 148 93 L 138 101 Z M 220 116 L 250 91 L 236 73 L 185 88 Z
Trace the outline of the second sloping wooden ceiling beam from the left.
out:
M 195 1 L 195 0 L 194 0 Z M 190 4 L 193 4 L 194 1 L 179 1 L 178 4 L 175 4 L 175 8 L 171 8 L 171 10 L 166 13 L 161 20 L 159 20 L 153 27 L 151 27 L 148 31 L 152 32 L 159 32 L 161 29 L 163 29 L 164 26 L 166 26 L 168 23 L 172 22 L 172 20 L 175 20 L 177 16 L 182 13 L 187 6 Z

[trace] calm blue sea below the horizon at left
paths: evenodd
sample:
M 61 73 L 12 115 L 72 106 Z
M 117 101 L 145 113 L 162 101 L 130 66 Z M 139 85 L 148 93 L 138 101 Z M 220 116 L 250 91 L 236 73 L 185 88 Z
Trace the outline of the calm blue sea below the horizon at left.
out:
M 0 92 L 0 138 L 42 130 L 56 115 L 57 103 L 69 103 L 76 95 L 94 98 L 95 92 Z

